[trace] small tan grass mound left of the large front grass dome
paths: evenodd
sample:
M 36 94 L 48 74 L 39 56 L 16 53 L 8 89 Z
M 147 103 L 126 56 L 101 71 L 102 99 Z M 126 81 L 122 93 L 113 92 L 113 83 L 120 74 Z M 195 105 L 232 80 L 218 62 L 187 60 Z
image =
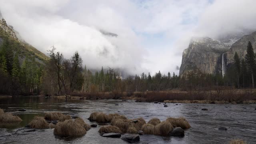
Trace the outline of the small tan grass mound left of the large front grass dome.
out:
M 48 122 L 41 116 L 35 116 L 34 119 L 28 124 L 30 128 L 49 128 Z

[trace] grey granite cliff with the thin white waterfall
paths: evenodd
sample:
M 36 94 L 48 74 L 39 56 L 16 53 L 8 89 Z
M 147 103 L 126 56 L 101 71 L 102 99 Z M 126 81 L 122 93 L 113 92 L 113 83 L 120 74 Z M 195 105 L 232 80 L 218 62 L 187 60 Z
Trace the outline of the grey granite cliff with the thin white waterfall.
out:
M 235 52 L 240 58 L 246 55 L 248 41 L 256 51 L 256 32 L 241 36 L 226 36 L 219 40 L 212 38 L 192 38 L 182 54 L 180 76 L 198 69 L 208 74 L 225 74 L 226 68 L 233 62 Z

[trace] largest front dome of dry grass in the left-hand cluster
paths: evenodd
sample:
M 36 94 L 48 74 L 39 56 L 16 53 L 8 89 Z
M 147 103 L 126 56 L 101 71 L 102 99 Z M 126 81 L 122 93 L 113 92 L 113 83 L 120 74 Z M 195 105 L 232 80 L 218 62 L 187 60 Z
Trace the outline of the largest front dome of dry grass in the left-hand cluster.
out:
M 58 122 L 54 128 L 54 135 L 57 136 L 84 136 L 86 130 L 72 119 L 65 120 L 64 122 Z

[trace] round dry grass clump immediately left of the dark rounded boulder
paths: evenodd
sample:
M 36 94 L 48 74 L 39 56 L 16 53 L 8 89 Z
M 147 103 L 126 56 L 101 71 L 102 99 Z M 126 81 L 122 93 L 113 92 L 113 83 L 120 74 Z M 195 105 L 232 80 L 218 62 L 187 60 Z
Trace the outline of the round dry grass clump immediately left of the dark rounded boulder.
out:
M 167 136 L 170 132 L 172 132 L 172 129 L 173 127 L 170 122 L 163 121 L 155 126 L 154 134 Z

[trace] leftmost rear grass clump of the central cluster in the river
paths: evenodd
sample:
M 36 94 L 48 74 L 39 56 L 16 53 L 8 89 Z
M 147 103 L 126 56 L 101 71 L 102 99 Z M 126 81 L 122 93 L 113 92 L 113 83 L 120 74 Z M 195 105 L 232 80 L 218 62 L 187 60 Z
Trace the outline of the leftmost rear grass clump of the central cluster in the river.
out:
M 92 122 L 110 122 L 111 118 L 103 112 L 93 112 L 92 114 L 90 114 L 88 120 Z

